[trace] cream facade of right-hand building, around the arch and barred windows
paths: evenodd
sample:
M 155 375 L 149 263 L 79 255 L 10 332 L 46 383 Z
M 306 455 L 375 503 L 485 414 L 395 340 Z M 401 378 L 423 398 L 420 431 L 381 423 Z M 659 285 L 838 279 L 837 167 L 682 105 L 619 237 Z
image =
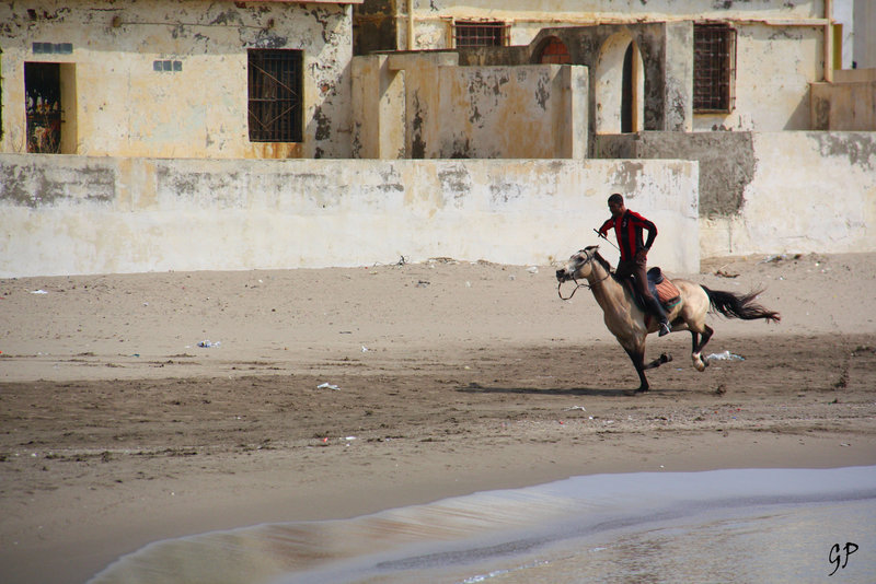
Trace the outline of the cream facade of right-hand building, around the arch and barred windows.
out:
M 534 49 L 543 28 L 588 26 L 606 31 L 589 40 L 593 46 L 575 47 L 563 38 L 575 63 L 590 68 L 590 87 L 598 86 L 598 58 L 603 43 L 624 28 L 659 24 L 666 27 L 666 46 L 633 33 L 643 51 L 645 71 L 645 120 L 637 129 L 707 131 L 807 130 L 809 83 L 823 78 L 825 3 L 822 0 L 762 0 L 702 2 L 696 0 L 560 0 L 554 2 L 456 2 L 417 0 L 414 3 L 414 48 L 452 47 L 453 20 L 491 20 L 510 24 L 510 44 Z M 406 16 L 405 16 L 406 17 Z M 693 115 L 691 83 L 692 32 L 682 23 L 718 21 L 737 30 L 736 106 L 728 114 Z M 554 34 L 552 32 L 552 34 Z M 662 42 L 662 39 L 661 39 Z M 653 60 L 649 60 L 653 58 Z M 659 65 L 657 65 L 659 63 Z M 659 69 L 655 68 L 659 67 Z M 613 107 L 613 103 L 606 104 Z M 599 104 L 591 103 L 591 116 Z M 601 132 L 599 124 L 591 128 Z M 609 128 L 608 132 L 613 130 Z

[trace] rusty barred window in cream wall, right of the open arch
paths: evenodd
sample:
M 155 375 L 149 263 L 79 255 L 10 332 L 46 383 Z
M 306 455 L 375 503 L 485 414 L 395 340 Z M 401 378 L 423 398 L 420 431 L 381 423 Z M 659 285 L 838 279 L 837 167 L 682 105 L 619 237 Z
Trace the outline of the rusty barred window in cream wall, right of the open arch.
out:
M 731 112 L 736 31 L 726 24 L 693 25 L 693 110 Z

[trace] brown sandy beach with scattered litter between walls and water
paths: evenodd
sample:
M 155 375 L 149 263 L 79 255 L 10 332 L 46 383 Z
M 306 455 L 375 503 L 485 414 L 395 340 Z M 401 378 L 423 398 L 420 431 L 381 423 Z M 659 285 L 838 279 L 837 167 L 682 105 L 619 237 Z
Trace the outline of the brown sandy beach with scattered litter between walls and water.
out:
M 644 395 L 555 268 L 0 280 L 0 580 L 578 475 L 876 464 L 876 255 L 670 275 L 763 288 L 782 322 L 711 316 L 704 373 L 688 332 L 652 336 L 675 361 Z

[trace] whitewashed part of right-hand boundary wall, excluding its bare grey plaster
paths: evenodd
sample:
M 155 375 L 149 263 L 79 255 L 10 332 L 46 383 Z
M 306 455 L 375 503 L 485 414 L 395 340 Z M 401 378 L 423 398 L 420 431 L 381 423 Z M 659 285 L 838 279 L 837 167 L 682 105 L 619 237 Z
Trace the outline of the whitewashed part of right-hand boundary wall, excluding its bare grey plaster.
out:
M 876 133 L 751 137 L 742 207 L 700 223 L 704 256 L 876 250 Z

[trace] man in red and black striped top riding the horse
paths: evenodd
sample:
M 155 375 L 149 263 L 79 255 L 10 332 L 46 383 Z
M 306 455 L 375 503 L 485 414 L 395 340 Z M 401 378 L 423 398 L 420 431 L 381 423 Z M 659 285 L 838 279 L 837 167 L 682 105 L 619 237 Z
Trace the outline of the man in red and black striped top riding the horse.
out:
M 606 237 L 609 230 L 614 229 L 614 234 L 618 236 L 621 259 L 618 261 L 614 276 L 620 281 L 635 276 L 633 285 L 642 296 L 645 307 L 657 317 L 660 337 L 668 335 L 672 328 L 666 317 L 666 312 L 648 290 L 647 258 L 650 246 L 657 237 L 657 226 L 635 211 L 627 209 L 619 192 L 609 197 L 609 210 L 611 218 L 599 227 L 599 235 Z M 642 237 L 643 230 L 648 232 L 647 240 Z

